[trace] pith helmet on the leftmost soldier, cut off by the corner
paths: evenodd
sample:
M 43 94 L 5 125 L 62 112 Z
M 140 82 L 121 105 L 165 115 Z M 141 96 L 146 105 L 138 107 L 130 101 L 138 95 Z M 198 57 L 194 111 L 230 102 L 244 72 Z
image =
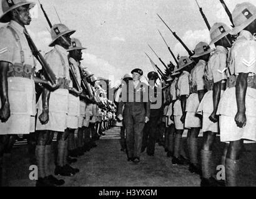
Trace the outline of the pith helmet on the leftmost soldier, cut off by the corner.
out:
M 26 0 L 1 0 L 2 1 L 2 13 L 0 14 L 0 22 L 7 23 L 11 21 L 8 16 L 8 13 L 13 9 L 16 9 L 20 6 L 29 5 L 29 7 L 34 7 L 36 4 L 31 1 Z

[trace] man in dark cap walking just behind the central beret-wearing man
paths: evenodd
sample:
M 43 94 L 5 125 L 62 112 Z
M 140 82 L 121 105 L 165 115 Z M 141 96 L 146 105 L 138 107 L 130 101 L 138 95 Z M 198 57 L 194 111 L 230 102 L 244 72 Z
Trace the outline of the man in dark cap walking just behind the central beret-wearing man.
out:
M 159 86 L 156 86 L 159 76 L 156 72 L 150 72 L 147 74 L 147 78 L 149 78 L 149 98 L 151 105 L 149 122 L 144 127 L 142 147 L 147 147 L 147 155 L 154 156 L 157 125 L 162 123 L 164 105 L 162 103 L 162 90 Z

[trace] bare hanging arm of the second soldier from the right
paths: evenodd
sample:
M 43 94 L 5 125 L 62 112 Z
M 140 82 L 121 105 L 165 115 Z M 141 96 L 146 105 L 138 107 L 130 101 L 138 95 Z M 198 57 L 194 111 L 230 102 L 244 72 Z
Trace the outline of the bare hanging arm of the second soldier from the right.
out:
M 213 123 L 217 123 L 218 121 L 216 113 L 217 113 L 217 109 L 220 102 L 221 85 L 222 85 L 222 81 L 218 81 L 214 83 L 214 90 L 212 93 L 212 98 L 214 101 L 214 111 L 212 111 L 212 114 L 210 114 L 209 116 L 210 121 L 212 121 Z

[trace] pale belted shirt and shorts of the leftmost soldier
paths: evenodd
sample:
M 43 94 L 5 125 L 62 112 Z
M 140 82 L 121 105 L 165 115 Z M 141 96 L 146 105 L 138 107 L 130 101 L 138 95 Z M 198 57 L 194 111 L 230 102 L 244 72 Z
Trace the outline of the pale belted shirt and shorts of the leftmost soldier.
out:
M 11 109 L 11 117 L 0 123 L 0 134 L 28 134 L 35 130 L 34 57 L 24 28 L 17 22 L 1 27 L 0 38 L 0 61 L 10 63 L 7 81 Z

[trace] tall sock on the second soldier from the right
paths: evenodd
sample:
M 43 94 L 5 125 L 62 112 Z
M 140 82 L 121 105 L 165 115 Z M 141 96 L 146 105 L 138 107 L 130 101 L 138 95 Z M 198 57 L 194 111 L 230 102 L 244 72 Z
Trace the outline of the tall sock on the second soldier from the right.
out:
M 212 151 L 201 150 L 201 159 L 202 159 L 202 177 L 209 179 L 212 176 L 212 170 L 211 170 Z

